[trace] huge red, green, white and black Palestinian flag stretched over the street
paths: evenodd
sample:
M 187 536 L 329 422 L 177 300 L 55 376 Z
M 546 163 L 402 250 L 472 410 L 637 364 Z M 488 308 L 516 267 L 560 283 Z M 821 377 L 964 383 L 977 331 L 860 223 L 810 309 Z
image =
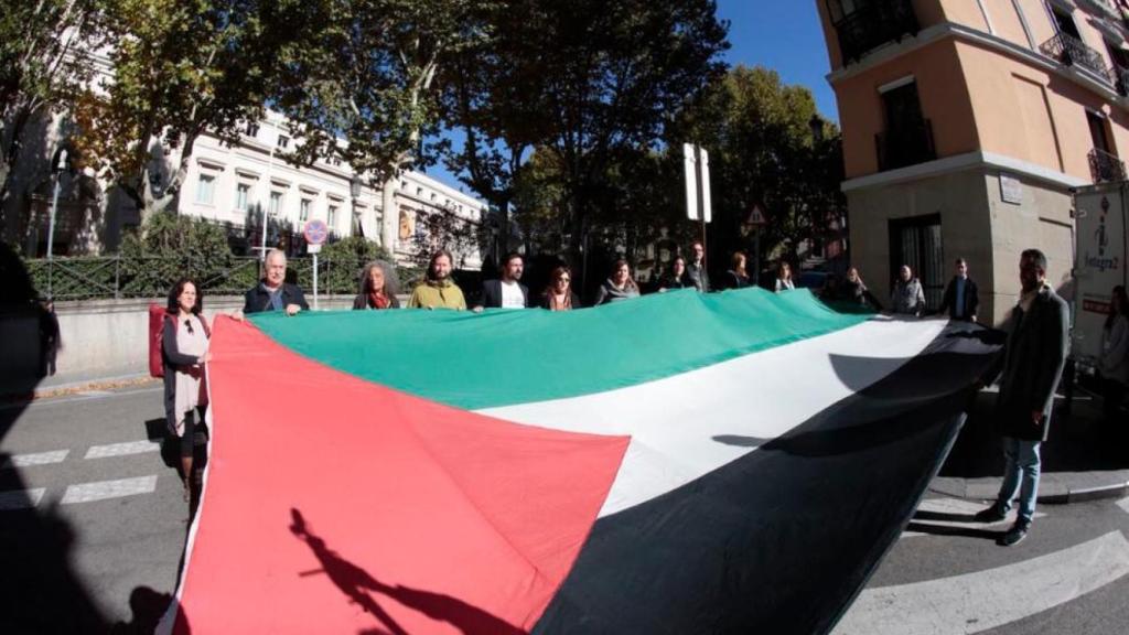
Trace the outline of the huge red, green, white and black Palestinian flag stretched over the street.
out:
M 180 633 L 819 633 L 995 356 L 807 292 L 221 319 Z

